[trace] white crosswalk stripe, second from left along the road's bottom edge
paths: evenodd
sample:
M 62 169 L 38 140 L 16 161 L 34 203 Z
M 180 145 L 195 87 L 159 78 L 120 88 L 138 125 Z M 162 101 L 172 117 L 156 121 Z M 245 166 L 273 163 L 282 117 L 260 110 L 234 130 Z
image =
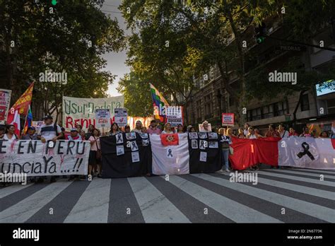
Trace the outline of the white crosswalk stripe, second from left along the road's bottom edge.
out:
M 110 184 L 110 179 L 90 182 L 64 223 L 107 223 Z

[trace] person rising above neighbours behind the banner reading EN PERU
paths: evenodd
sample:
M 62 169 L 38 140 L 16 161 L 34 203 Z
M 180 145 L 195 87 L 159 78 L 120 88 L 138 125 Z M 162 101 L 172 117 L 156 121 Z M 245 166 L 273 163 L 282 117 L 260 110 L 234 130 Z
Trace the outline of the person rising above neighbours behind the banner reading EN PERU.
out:
M 51 115 L 47 115 L 45 117 L 45 124 L 42 124 L 40 129 L 38 129 L 37 138 L 41 139 L 42 143 L 46 141 L 52 140 L 57 141 L 57 139 L 61 139 L 63 133 L 61 132 L 61 127 L 58 124 L 53 122 L 53 118 Z

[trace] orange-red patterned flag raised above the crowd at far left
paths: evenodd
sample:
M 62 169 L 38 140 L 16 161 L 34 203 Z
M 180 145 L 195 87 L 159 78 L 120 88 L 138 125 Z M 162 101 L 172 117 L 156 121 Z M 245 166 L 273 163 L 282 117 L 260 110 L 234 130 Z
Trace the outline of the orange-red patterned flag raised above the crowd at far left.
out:
M 31 83 L 28 89 L 25 90 L 25 93 L 23 93 L 14 103 L 8 112 L 7 122 L 13 122 L 16 110 L 18 111 L 18 115 L 27 115 L 28 107 L 31 103 L 31 99 L 33 98 L 33 88 L 34 83 Z

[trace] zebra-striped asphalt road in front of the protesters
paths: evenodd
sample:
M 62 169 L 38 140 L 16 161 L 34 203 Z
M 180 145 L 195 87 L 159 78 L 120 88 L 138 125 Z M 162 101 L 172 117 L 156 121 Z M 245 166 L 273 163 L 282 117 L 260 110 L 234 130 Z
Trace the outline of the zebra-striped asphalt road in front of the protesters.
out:
M 11 185 L 0 223 L 335 223 L 335 171 L 257 173 L 257 185 L 228 173 Z

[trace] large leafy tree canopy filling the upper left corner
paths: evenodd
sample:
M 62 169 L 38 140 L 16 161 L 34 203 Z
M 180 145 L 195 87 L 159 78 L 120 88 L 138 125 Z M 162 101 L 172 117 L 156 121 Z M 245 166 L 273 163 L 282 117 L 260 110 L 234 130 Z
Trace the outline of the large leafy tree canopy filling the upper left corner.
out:
M 61 1 L 56 6 L 51 1 L 0 2 L 7 71 L 0 78 L 6 78 L 6 87 L 13 90 L 12 100 L 32 81 L 37 82 L 33 100 L 45 114 L 58 115 L 62 95 L 106 95 L 114 76 L 102 71 L 106 61 L 100 55 L 122 49 L 124 36 L 117 21 L 100 11 L 102 2 Z M 67 83 L 40 83 L 40 73 L 49 69 L 66 72 Z

